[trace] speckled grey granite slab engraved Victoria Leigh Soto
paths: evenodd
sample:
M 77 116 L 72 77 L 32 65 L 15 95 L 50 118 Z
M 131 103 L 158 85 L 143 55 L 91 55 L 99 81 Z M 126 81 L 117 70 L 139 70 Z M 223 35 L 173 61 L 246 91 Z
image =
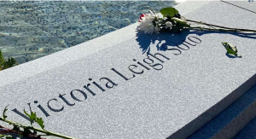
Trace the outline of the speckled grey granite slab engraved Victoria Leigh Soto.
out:
M 222 2 L 176 8 L 191 20 L 256 30 L 256 14 Z M 0 72 L 1 106 L 9 104 L 9 119 L 29 124 L 14 109 L 28 110 L 31 102 L 46 129 L 68 136 L 185 138 L 255 84 L 255 35 L 145 35 L 136 27 Z M 224 41 L 234 43 L 243 57 L 225 55 Z M 148 46 L 153 55 L 146 59 L 142 51 Z M 168 50 L 162 51 L 164 46 Z

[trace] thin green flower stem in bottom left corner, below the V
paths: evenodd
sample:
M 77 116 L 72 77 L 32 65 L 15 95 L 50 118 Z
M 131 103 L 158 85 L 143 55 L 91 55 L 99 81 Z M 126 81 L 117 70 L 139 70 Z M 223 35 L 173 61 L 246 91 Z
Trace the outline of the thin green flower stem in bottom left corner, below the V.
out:
M 61 134 L 57 134 L 57 133 L 54 133 L 54 132 L 50 132 L 48 130 L 41 130 L 41 129 L 38 129 L 36 127 L 32 127 L 32 126 L 26 126 L 26 125 L 21 125 L 21 124 L 17 124 L 13 121 L 10 121 L 8 119 L 3 119 L 2 117 L 0 117 L 0 120 L 5 122 L 5 123 L 8 123 L 9 125 L 17 125 L 17 126 L 20 126 L 22 128 L 28 128 L 30 130 L 37 130 L 38 132 L 41 132 L 41 133 L 44 133 L 46 134 L 45 136 L 57 136 L 57 137 L 61 137 L 61 138 L 64 138 L 64 139 L 75 139 L 73 137 L 69 137 L 69 136 L 63 136 Z

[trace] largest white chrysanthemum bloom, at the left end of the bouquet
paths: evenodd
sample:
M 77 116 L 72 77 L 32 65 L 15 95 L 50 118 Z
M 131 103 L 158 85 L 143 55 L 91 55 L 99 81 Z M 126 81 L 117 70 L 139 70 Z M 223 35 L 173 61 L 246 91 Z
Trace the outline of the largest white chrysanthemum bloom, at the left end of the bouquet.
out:
M 138 30 L 143 31 L 145 33 L 152 34 L 153 32 L 159 32 L 159 28 L 154 26 L 153 21 L 159 18 L 159 16 L 154 12 L 150 11 L 151 14 L 143 14 L 141 17 L 140 25 L 138 26 Z M 154 31 L 155 30 L 155 31 Z

